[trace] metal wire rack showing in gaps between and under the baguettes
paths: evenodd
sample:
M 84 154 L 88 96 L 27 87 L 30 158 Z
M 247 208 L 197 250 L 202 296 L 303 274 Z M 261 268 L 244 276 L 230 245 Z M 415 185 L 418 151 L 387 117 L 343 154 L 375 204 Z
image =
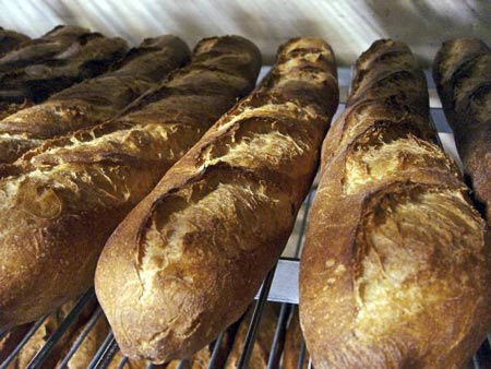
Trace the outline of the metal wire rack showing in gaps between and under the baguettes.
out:
M 263 76 L 267 72 L 268 68 L 264 67 L 262 69 L 262 73 L 260 75 Z M 430 93 L 430 107 L 431 107 L 431 121 L 434 124 L 435 129 L 439 131 L 439 140 L 442 147 L 453 156 L 457 163 L 459 163 L 458 157 L 456 156 L 455 146 L 453 142 L 452 131 L 446 123 L 444 115 L 441 109 L 440 100 L 436 96 L 434 83 L 429 72 L 426 73 L 429 85 Z M 337 114 L 344 110 L 344 103 L 347 99 L 348 91 L 349 91 L 349 82 L 351 79 L 351 70 L 349 68 L 340 68 L 338 70 L 339 85 L 340 85 L 340 106 Z M 260 288 L 255 302 L 253 305 L 252 318 L 250 319 L 247 335 L 243 340 L 243 347 L 240 354 L 240 357 L 237 361 L 238 369 L 247 369 L 249 368 L 249 360 L 251 357 L 251 353 L 254 346 L 254 341 L 256 338 L 258 332 L 261 326 L 261 320 L 263 318 L 263 311 L 266 303 L 276 303 L 278 305 L 276 328 L 273 336 L 273 341 L 270 346 L 270 354 L 267 358 L 267 369 L 273 369 L 278 367 L 278 357 L 282 357 L 282 352 L 284 350 L 283 342 L 285 340 L 285 335 L 287 332 L 287 323 L 289 321 L 289 317 L 295 311 L 295 306 L 298 303 L 298 266 L 299 266 L 299 255 L 301 253 L 301 248 L 303 245 L 304 231 L 307 228 L 308 215 L 312 199 L 314 197 L 316 190 L 318 179 L 314 181 L 312 189 L 307 197 L 297 218 L 297 223 L 295 229 L 290 236 L 284 255 L 278 261 L 278 263 L 273 267 L 273 270 L 265 277 L 262 287 Z M 65 317 L 65 319 L 58 325 L 58 328 L 52 332 L 49 337 L 46 340 L 46 344 L 35 354 L 29 364 L 26 366 L 28 369 L 35 368 L 46 368 L 46 360 L 49 355 L 52 353 L 53 347 L 63 340 L 64 333 L 70 329 L 72 324 L 75 324 L 76 319 L 82 314 L 84 309 L 87 309 L 89 303 L 94 303 L 95 294 L 94 289 L 91 288 L 87 293 L 85 293 L 79 301 L 75 303 L 70 313 Z M 94 329 L 97 321 L 103 319 L 103 311 L 100 307 L 96 307 L 95 312 L 88 319 L 83 330 L 79 334 L 75 341 L 73 341 L 70 348 L 64 350 L 63 358 L 59 361 L 59 368 L 67 368 L 68 362 L 76 353 L 81 344 L 89 334 L 91 330 Z M 23 336 L 23 338 L 19 342 L 19 344 L 10 352 L 10 354 L 4 358 L 3 362 L 0 362 L 0 369 L 10 369 L 12 368 L 12 361 L 22 350 L 22 348 L 26 345 L 26 343 L 33 337 L 33 335 L 39 330 L 43 323 L 46 321 L 47 316 L 39 319 L 35 322 L 27 333 Z M 9 332 L 0 332 L 0 341 L 8 334 Z M 221 346 L 221 342 L 224 340 L 224 333 L 221 333 L 217 340 L 212 344 L 211 358 L 207 362 L 208 369 L 214 369 L 216 367 L 216 360 L 218 357 L 219 347 Z M 97 349 L 96 354 L 93 356 L 92 361 L 89 362 L 89 369 L 100 369 L 107 368 L 108 365 L 113 360 L 115 355 L 119 352 L 118 344 L 115 341 L 115 337 L 111 332 L 109 332 Z M 1 357 L 1 356 L 0 356 Z M 297 368 L 302 369 L 306 368 L 306 359 L 308 357 L 308 353 L 306 349 L 306 345 L 302 342 L 299 347 L 298 353 L 298 364 Z M 113 366 L 113 368 L 125 368 L 128 362 L 128 358 L 124 356 L 121 357 L 119 362 Z M 178 369 L 182 369 L 185 366 L 185 360 L 180 361 Z M 115 365 L 112 362 L 112 365 Z M 310 359 L 307 365 L 308 369 L 312 368 L 312 364 Z M 147 368 L 154 368 L 152 364 L 147 365 Z M 491 369 L 491 335 L 488 335 L 488 340 L 481 345 L 479 350 L 472 357 L 472 360 L 463 369 Z

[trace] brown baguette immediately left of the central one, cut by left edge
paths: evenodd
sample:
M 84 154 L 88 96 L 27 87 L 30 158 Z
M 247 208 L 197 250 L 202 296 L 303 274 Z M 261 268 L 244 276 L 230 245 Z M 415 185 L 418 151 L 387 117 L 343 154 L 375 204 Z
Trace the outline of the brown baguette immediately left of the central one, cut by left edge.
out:
M 118 223 L 254 86 L 249 40 L 202 40 L 192 62 L 123 117 L 48 141 L 0 179 L 0 328 L 36 319 L 93 283 Z

